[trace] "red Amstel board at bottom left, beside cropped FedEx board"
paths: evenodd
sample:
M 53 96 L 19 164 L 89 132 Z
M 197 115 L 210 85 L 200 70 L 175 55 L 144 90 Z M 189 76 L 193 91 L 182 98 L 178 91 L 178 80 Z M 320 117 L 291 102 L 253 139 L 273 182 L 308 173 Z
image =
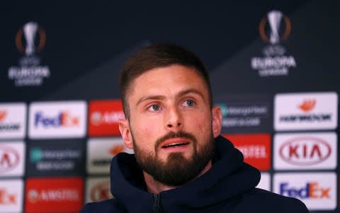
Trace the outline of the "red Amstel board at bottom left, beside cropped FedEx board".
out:
M 26 181 L 26 212 L 78 212 L 83 205 L 81 178 L 31 178 Z

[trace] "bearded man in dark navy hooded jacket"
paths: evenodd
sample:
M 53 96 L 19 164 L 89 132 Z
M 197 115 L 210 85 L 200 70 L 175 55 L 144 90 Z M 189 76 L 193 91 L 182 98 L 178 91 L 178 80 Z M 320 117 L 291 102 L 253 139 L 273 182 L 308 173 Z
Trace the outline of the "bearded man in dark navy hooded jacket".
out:
M 81 212 L 308 212 L 299 200 L 255 188 L 259 170 L 220 135 L 208 71 L 189 50 L 154 44 L 120 72 L 125 146 L 111 163 L 115 199 Z

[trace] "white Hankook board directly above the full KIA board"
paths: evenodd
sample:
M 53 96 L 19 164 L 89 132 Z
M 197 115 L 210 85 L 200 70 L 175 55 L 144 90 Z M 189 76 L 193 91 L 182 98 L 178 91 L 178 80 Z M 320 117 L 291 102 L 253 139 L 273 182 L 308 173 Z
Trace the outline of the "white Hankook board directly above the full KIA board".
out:
M 336 129 L 338 96 L 335 92 L 276 94 L 276 131 Z

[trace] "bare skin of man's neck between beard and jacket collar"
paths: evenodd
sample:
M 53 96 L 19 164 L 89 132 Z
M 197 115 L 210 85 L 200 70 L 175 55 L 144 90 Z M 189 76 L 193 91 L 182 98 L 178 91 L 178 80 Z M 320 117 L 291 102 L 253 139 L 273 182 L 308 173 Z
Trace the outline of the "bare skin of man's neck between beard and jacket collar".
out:
M 206 173 L 208 170 L 210 170 L 211 167 L 212 167 L 212 162 L 210 160 L 209 163 L 205 166 L 205 168 L 196 176 L 196 178 Z M 157 180 L 154 180 L 154 178 L 148 173 L 146 173 L 145 171 L 143 171 L 143 175 L 144 175 L 145 183 L 147 185 L 147 191 L 150 193 L 159 194 L 160 192 L 163 192 L 166 190 L 172 190 L 176 187 L 180 187 L 180 186 L 166 185 L 162 182 L 158 182 Z M 195 180 L 196 178 L 194 178 L 193 180 Z

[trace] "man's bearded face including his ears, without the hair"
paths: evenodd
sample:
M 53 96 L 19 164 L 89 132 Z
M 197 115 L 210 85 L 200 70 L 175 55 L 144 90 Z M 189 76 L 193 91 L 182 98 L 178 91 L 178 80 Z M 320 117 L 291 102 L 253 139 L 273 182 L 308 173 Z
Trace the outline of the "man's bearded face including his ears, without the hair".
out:
M 222 119 L 219 108 L 210 109 L 203 78 L 171 65 L 145 72 L 130 87 L 130 119 L 120 122 L 120 132 L 137 163 L 166 185 L 196 178 L 212 158 Z

